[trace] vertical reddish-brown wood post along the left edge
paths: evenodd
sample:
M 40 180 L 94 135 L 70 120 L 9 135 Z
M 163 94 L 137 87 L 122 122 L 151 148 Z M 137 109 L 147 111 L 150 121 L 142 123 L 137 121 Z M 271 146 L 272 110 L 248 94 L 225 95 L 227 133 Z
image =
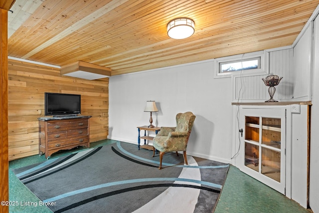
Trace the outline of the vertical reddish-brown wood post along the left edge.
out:
M 7 12 L 5 9 L 0 9 L 0 201 L 8 201 L 9 199 Z M 8 211 L 8 206 L 0 206 L 0 213 Z

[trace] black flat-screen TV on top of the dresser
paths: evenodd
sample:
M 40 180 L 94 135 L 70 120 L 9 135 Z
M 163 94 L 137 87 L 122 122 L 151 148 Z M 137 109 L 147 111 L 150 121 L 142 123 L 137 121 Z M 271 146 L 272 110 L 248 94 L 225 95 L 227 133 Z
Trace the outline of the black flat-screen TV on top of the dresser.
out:
M 81 114 L 81 95 L 44 93 L 45 115 Z

